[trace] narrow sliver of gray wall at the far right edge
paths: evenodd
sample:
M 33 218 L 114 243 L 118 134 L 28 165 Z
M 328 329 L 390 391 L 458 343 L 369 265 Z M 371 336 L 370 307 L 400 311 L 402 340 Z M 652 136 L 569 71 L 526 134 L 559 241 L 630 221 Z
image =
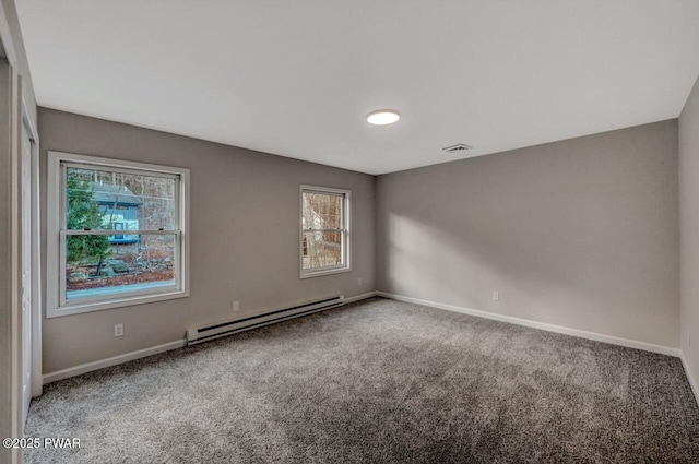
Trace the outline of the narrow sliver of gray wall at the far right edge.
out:
M 679 116 L 679 230 L 682 350 L 699 386 L 699 79 Z

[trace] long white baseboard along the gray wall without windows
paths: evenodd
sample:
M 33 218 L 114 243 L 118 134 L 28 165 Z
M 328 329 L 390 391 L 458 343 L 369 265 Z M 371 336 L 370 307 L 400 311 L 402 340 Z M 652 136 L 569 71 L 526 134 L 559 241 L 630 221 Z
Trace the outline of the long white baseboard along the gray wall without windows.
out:
M 491 319 L 500 322 L 509 322 L 511 324 L 524 325 L 532 329 L 540 329 L 548 332 L 562 333 L 565 335 L 579 336 L 581 338 L 594 340 L 595 342 L 611 343 L 613 345 L 626 346 L 627 348 L 643 349 L 645 352 L 659 353 L 661 355 L 680 357 L 682 352 L 678 348 L 670 346 L 654 345 L 652 343 L 638 342 L 636 340 L 621 338 L 613 335 L 604 335 L 595 332 L 587 332 L 579 329 L 565 328 L 561 325 L 547 324 L 545 322 L 531 321 L 529 319 L 514 318 L 512 316 L 497 314 L 495 312 L 481 311 L 477 309 L 462 308 L 454 305 L 445 305 L 418 298 L 406 297 L 402 295 L 393 295 L 386 292 L 377 292 L 377 296 L 391 298 L 399 301 L 413 302 L 416 305 L 429 306 L 431 308 L 445 309 L 447 311 L 461 312 L 463 314 L 475 316 L 484 319 Z

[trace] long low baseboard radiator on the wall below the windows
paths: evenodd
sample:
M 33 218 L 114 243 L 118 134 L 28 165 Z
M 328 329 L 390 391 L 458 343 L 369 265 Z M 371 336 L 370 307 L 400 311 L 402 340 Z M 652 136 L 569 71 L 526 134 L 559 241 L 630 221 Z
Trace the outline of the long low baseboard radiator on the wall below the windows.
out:
M 209 342 L 210 340 L 221 338 L 222 336 L 232 335 L 234 333 L 249 331 L 251 329 L 270 325 L 288 319 L 299 318 L 312 312 L 337 308 L 344 305 L 344 301 L 345 297 L 343 295 L 337 295 L 294 305 L 283 309 L 272 310 L 260 316 L 253 316 L 245 319 L 233 319 L 229 321 L 221 321 L 208 325 L 191 328 L 187 330 L 187 345 L 196 345 L 198 343 Z

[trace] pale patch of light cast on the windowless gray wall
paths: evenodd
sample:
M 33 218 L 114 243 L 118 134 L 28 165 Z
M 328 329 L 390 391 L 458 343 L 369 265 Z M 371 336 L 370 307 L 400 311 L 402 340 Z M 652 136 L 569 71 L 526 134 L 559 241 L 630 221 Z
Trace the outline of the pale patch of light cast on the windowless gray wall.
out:
M 581 292 L 580 279 L 567 275 L 565 265 L 547 266 L 547 255 L 556 254 L 553 246 L 542 251 L 528 247 L 528 240 L 517 233 L 512 239 L 521 242 L 486 229 L 473 227 L 465 236 L 455 237 L 437 226 L 391 214 L 387 259 L 391 293 L 517 317 L 525 317 L 521 312 L 525 310 L 534 320 L 546 320 L 549 311 L 545 308 L 555 300 L 584 299 L 591 307 L 604 308 L 616 295 L 604 288 Z M 483 236 L 477 237 L 479 234 Z M 507 255 L 512 258 L 502 258 Z M 545 292 L 536 293 L 535 288 Z M 491 299 L 495 290 L 502 294 L 500 302 Z

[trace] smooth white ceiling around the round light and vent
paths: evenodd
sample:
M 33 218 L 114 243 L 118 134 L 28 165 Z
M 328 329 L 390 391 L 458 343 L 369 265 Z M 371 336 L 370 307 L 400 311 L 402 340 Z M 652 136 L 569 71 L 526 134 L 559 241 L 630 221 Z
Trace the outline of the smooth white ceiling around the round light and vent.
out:
M 699 74 L 699 0 L 16 3 L 42 106 L 368 174 L 675 118 Z

